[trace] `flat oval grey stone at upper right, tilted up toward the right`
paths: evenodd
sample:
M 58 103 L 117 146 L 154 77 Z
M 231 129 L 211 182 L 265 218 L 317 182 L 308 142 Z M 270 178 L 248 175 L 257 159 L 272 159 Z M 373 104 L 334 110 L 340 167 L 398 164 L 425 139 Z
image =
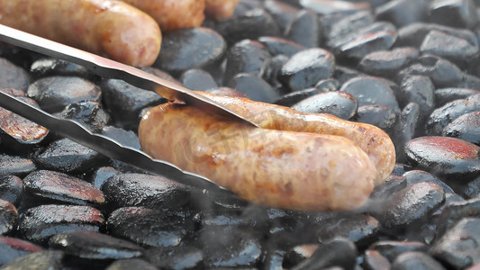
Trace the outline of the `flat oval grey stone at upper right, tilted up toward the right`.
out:
M 363 57 L 358 67 L 370 75 L 393 77 L 418 58 L 418 49 L 412 47 L 378 50 Z

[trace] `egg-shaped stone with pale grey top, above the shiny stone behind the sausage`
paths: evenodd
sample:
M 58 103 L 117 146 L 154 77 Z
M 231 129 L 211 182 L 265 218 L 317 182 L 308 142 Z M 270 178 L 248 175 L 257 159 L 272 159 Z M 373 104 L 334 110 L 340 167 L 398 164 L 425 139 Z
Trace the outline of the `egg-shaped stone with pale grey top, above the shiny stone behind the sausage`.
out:
M 292 91 L 314 86 L 329 78 L 335 70 L 335 58 L 325 49 L 304 49 L 292 56 L 282 67 L 280 81 Z

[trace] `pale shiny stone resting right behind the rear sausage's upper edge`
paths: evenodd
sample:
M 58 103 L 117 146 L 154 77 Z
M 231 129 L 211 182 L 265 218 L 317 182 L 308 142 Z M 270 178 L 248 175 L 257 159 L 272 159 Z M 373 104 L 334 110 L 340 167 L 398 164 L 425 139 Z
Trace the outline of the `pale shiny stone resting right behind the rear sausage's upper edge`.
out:
M 357 108 L 355 97 L 340 91 L 315 94 L 292 106 L 292 109 L 298 112 L 331 113 L 345 120 L 355 115 Z

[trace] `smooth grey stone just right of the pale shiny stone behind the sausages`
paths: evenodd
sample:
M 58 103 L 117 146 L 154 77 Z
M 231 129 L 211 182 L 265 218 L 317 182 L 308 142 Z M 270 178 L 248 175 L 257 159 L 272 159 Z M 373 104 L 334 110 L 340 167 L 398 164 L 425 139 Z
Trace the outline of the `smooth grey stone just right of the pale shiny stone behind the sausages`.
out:
M 341 85 L 340 91 L 355 96 L 358 106 L 378 104 L 390 107 L 394 112 L 400 111 L 394 91 L 381 78 L 373 76 L 354 77 Z

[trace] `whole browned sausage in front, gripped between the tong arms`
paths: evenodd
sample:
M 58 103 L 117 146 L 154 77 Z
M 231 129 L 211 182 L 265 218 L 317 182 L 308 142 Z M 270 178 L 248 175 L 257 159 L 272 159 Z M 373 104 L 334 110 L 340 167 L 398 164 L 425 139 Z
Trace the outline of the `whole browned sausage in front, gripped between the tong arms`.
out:
M 355 209 L 367 201 L 376 177 L 370 158 L 349 139 L 264 130 L 187 105 L 149 110 L 139 139 L 151 157 L 269 207 Z

